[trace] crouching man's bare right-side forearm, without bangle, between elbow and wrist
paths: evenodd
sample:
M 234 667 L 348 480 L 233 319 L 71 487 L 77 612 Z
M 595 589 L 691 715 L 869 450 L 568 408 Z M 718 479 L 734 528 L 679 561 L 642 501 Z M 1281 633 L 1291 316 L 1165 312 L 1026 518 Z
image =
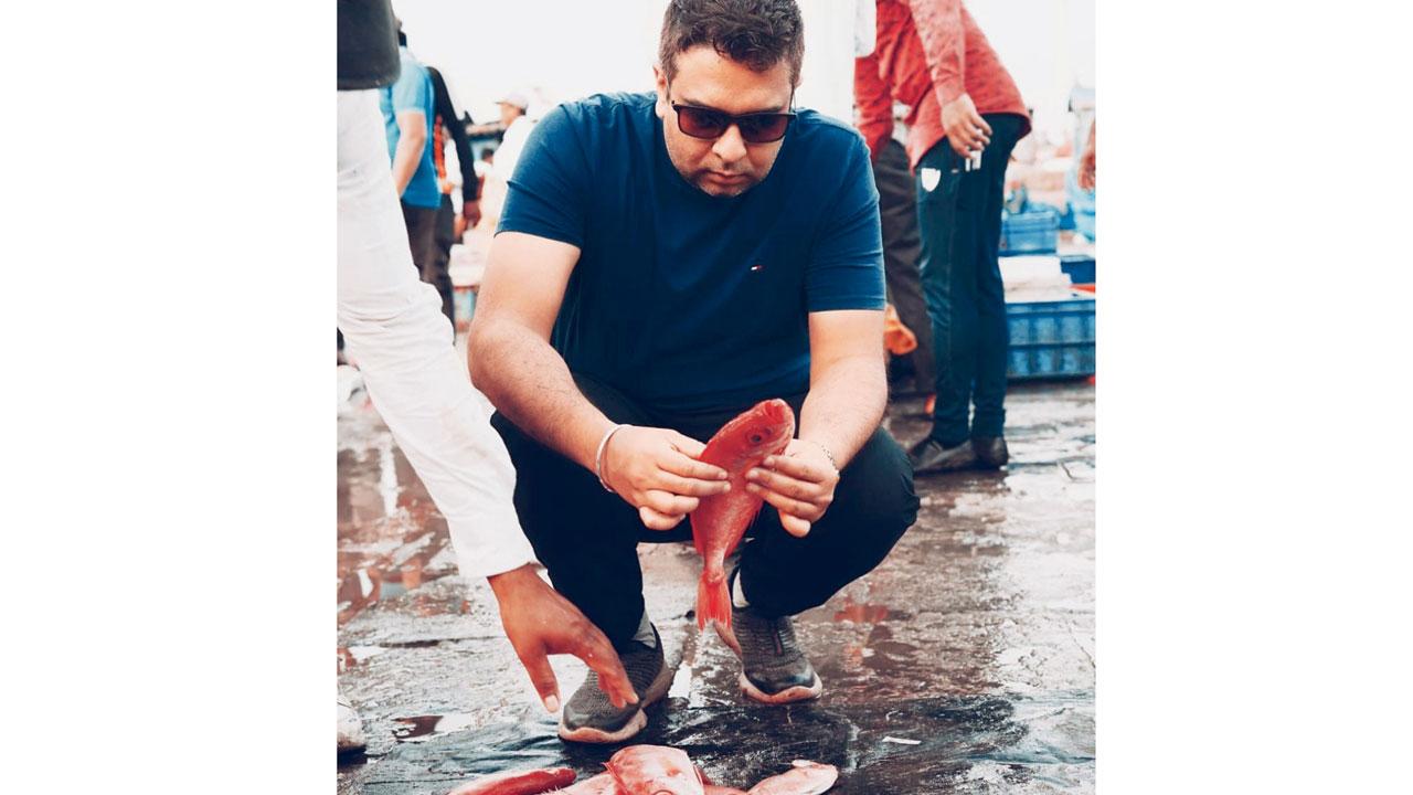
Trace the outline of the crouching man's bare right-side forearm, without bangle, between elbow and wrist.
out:
M 829 364 L 811 381 L 800 410 L 800 439 L 822 446 L 842 470 L 883 420 L 886 369 L 877 356 L 849 356 Z

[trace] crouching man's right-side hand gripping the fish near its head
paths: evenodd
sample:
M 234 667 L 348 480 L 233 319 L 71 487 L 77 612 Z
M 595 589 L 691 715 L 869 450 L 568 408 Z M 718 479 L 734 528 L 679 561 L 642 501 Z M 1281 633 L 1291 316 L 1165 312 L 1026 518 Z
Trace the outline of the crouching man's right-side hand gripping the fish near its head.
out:
M 790 440 L 784 455 L 770 455 L 746 472 L 746 491 L 763 498 L 780 512 L 780 526 L 796 538 L 810 533 L 834 502 L 839 471 L 824 447 L 801 439 Z

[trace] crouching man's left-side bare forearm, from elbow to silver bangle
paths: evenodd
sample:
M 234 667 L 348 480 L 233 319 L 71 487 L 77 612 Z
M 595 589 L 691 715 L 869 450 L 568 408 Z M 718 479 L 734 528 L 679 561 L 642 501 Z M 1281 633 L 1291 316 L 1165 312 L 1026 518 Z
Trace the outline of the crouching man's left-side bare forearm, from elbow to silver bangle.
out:
M 560 354 L 530 328 L 493 323 L 472 330 L 471 381 L 502 414 L 537 441 L 593 471 L 613 426 L 579 392 Z

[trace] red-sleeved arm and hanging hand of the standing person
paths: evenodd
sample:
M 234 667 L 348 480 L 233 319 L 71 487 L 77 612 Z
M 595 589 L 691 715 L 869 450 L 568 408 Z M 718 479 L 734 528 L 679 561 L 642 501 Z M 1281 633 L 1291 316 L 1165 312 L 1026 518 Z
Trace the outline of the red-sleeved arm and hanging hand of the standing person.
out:
M 961 0 L 909 0 L 952 151 L 966 157 L 991 143 L 991 124 L 966 93 L 966 33 Z

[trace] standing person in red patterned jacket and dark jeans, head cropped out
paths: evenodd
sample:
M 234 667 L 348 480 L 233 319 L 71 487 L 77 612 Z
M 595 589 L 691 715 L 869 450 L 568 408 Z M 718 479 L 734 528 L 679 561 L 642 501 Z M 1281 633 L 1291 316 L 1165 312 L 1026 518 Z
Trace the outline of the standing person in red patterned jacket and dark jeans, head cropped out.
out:
M 859 132 L 876 158 L 893 132 L 893 102 L 909 108 L 918 267 L 937 364 L 933 430 L 909 458 L 918 474 L 996 468 L 1009 458 L 1002 434 L 1009 340 L 996 249 L 1006 163 L 1030 119 L 961 0 L 877 0 L 876 24 L 876 48 L 855 61 Z

